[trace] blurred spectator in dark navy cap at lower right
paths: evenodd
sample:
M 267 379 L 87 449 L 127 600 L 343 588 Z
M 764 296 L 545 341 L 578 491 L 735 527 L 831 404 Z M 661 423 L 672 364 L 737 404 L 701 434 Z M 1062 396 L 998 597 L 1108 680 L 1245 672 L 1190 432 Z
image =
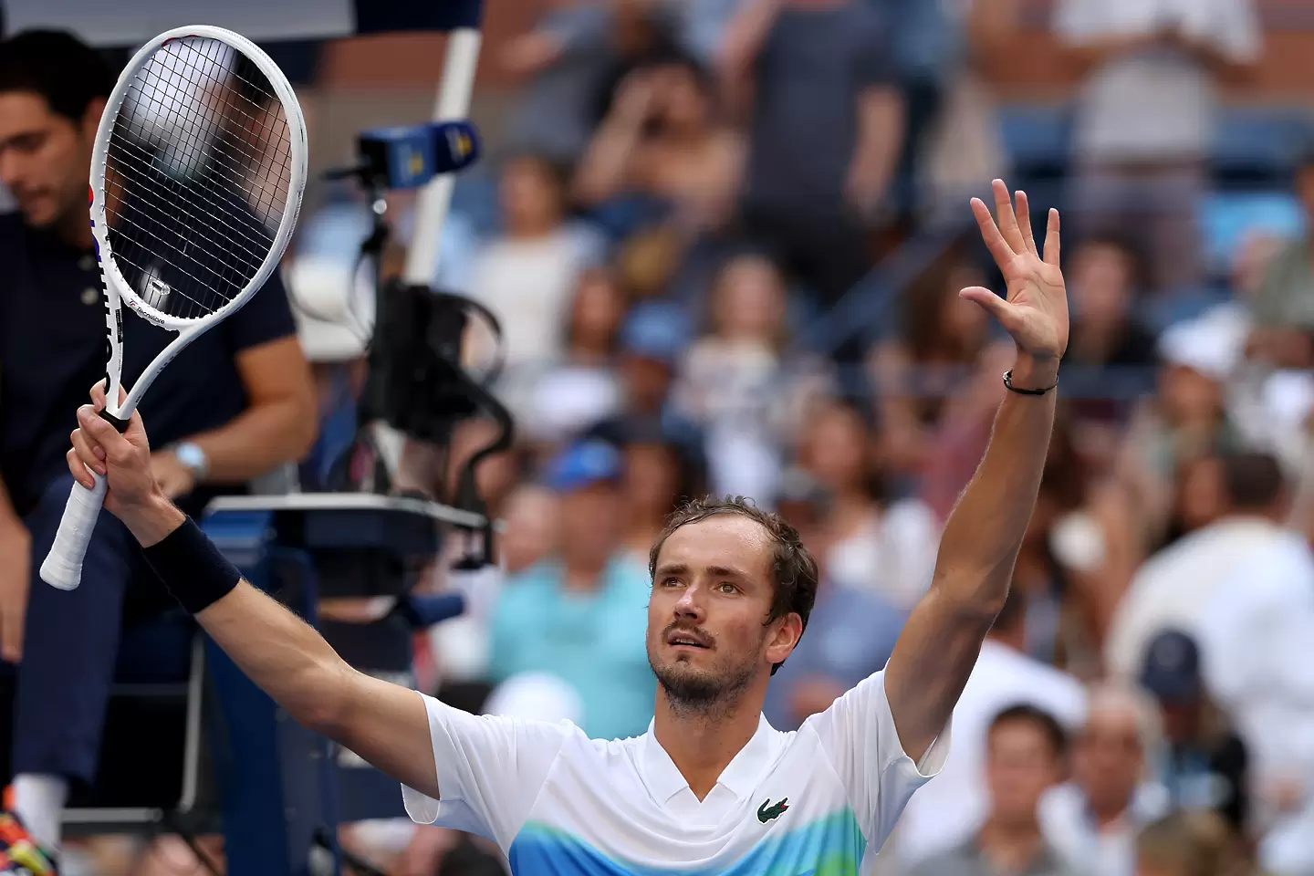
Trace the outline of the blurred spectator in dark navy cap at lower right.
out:
M 1213 809 L 1236 835 L 1246 830 L 1250 774 L 1246 743 L 1205 692 L 1200 647 L 1179 630 L 1150 642 L 1141 686 L 1159 701 L 1164 756 L 1151 764 L 1176 809 Z

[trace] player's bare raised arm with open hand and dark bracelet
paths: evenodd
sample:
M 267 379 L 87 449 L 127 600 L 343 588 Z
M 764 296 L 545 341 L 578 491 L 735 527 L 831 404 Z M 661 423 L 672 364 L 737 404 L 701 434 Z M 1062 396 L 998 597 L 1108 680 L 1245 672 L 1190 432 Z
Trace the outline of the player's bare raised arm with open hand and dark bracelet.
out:
M 1008 282 L 1008 298 L 982 288 L 961 294 L 988 310 L 1013 336 L 1013 391 L 1005 394 L 986 456 L 949 515 L 930 590 L 908 619 L 886 670 L 899 741 L 915 760 L 949 722 L 982 641 L 1008 596 L 1045 470 L 1054 427 L 1051 387 L 1067 348 L 1058 211 L 1049 213 L 1042 259 L 1026 196 L 1017 193 L 1014 215 L 1004 183 L 995 180 L 993 192 L 999 225 L 976 198 L 972 213 Z

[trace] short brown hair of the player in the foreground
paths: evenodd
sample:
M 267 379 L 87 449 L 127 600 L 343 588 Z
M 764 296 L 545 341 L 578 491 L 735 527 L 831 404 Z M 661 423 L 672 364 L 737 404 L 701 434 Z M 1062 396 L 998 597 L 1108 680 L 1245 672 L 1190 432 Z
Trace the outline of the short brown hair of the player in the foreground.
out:
M 808 628 L 808 616 L 817 598 L 817 561 L 811 552 L 803 546 L 799 531 L 786 523 L 779 515 L 762 511 L 752 499 L 745 496 L 703 496 L 682 504 L 666 520 L 666 528 L 661 531 L 648 554 L 648 574 L 657 575 L 657 554 L 666 538 L 681 527 L 699 523 L 717 515 L 735 515 L 748 517 L 757 523 L 771 538 L 774 556 L 771 558 L 771 613 L 766 623 L 770 624 L 777 617 L 784 617 L 794 612 L 803 620 L 803 629 Z M 800 633 L 802 636 L 802 633 Z M 771 667 L 774 675 L 784 661 Z

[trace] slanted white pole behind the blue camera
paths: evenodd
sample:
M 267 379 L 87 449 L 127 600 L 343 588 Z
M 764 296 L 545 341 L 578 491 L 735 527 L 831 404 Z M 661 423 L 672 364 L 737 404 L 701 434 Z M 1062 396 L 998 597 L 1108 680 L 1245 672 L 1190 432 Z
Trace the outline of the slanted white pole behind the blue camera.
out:
M 447 37 L 443 79 L 438 84 L 434 121 L 459 121 L 469 117 L 474 92 L 474 68 L 480 63 L 481 34 L 472 28 L 452 30 Z M 443 222 L 452 204 L 452 173 L 435 176 L 415 200 L 415 230 L 406 251 L 405 280 L 409 284 L 432 285 L 438 271 L 438 243 Z

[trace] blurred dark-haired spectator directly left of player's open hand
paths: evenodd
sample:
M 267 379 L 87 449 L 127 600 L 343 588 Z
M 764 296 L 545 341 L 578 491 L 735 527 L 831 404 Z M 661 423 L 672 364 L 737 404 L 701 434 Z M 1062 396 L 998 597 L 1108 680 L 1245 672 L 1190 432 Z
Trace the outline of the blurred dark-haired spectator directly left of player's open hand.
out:
M 986 277 L 971 261 L 957 253 L 941 259 L 908 289 L 901 326 L 872 352 L 882 456 L 896 473 L 918 474 L 941 462 L 932 435 L 991 341 L 989 318 L 958 296 L 982 285 Z

